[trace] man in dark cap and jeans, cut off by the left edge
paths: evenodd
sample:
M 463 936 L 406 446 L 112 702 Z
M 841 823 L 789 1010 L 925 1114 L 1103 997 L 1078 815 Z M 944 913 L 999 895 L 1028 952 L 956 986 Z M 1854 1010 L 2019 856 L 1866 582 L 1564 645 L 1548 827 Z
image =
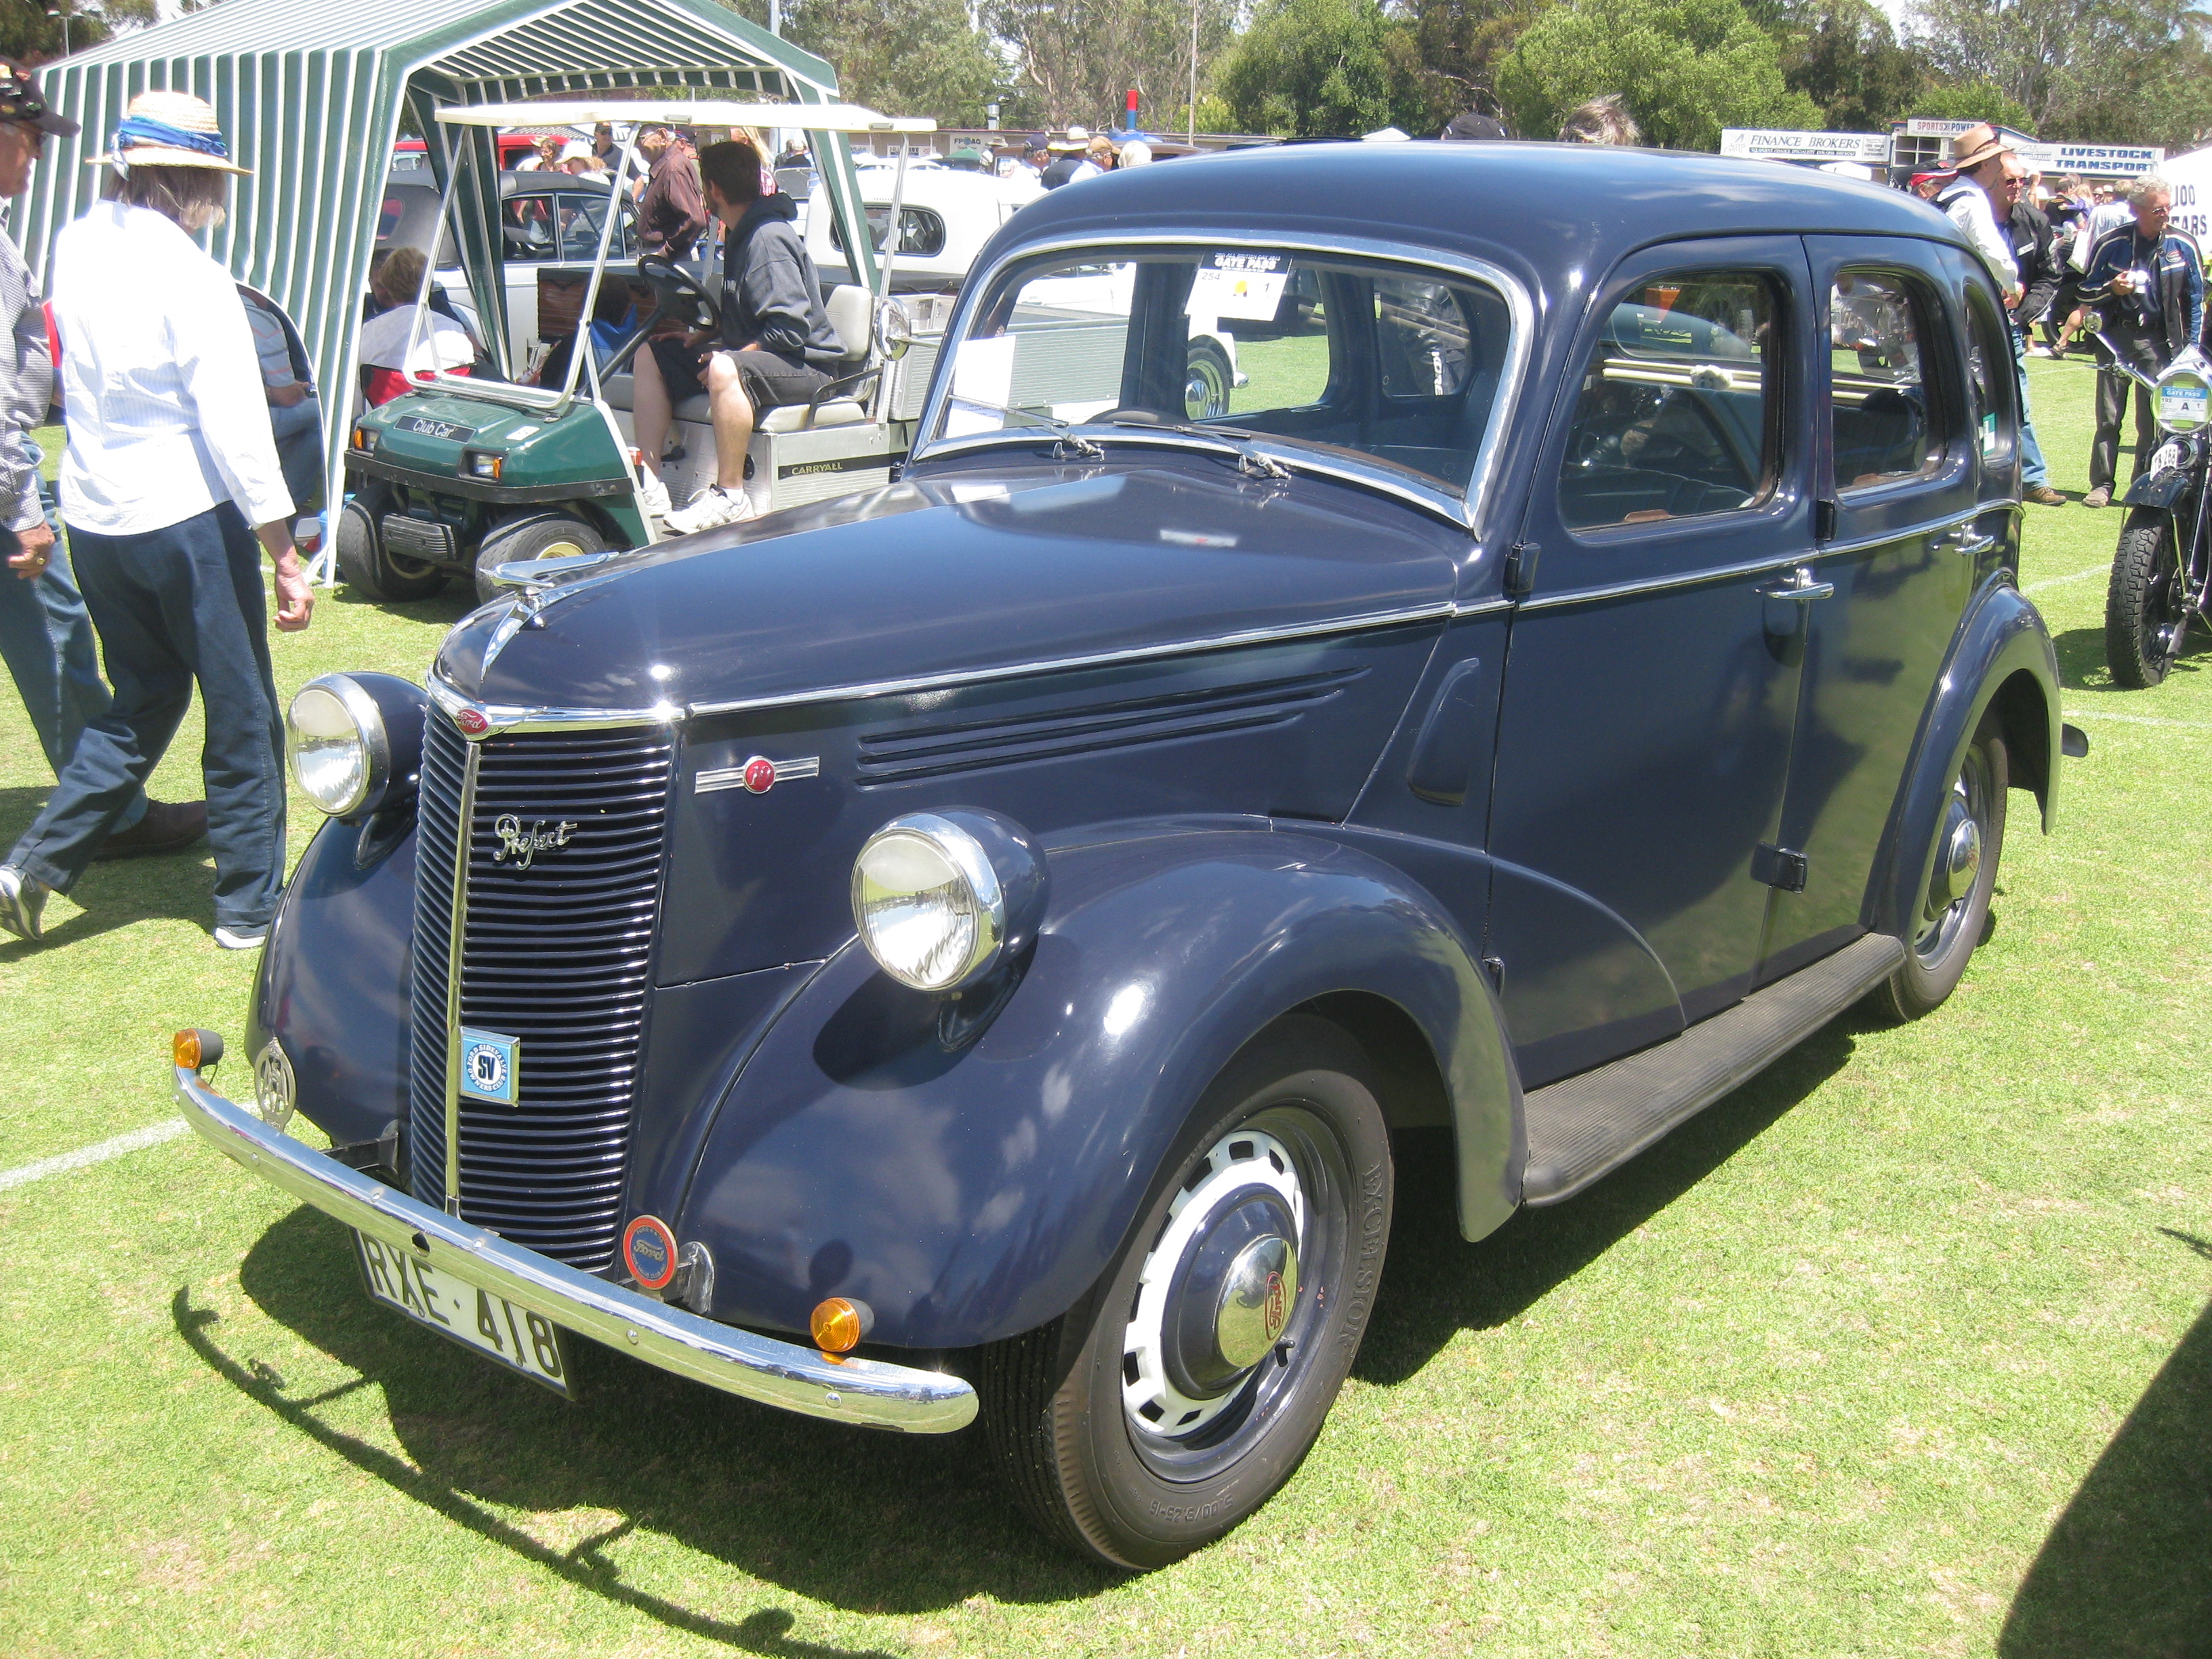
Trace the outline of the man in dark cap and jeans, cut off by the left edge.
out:
M 0 197 L 18 197 L 31 184 L 31 164 L 53 133 L 71 135 L 77 124 L 46 108 L 31 71 L 0 60 Z M 44 456 L 29 431 L 46 416 L 53 363 L 46 354 L 46 319 L 38 283 L 24 270 L 15 243 L 0 237 L 0 661 L 22 695 L 31 730 L 60 776 L 77 752 L 88 721 L 108 712 L 108 688 L 100 679 L 93 622 L 55 540 L 51 493 L 40 478 Z M 139 792 L 115 821 L 115 832 L 95 858 L 131 858 L 175 852 L 208 830 L 208 810 L 155 805 Z

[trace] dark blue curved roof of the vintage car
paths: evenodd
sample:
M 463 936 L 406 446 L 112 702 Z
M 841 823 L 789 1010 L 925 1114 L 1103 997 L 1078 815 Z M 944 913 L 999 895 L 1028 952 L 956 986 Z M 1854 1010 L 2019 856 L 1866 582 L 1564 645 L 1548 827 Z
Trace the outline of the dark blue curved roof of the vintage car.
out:
M 1905 190 L 1719 155 L 1597 144 L 1283 144 L 1108 173 L 1024 208 L 1013 243 L 1183 232 L 1363 239 L 1489 259 L 1540 290 L 1681 237 L 1876 234 L 1964 243 Z

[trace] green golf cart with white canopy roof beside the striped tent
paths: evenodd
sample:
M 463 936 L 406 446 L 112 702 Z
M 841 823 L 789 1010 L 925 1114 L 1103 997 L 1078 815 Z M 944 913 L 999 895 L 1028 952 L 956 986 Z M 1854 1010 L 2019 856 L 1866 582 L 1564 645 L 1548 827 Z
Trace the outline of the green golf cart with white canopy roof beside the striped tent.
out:
M 553 102 L 440 108 L 438 122 L 456 128 L 597 124 L 628 128 L 622 166 L 628 166 L 641 126 L 794 126 L 814 142 L 843 148 L 845 133 L 931 133 L 927 119 L 891 119 L 854 104 L 737 104 L 737 102 Z M 478 170 L 484 144 L 458 144 L 445 212 L 462 246 L 465 263 L 491 268 L 471 283 L 478 312 L 500 307 L 500 268 L 513 248 L 498 221 L 498 179 Z M 617 168 L 619 175 L 622 168 Z M 489 215 L 484 212 L 489 204 Z M 487 223 L 469 223 L 469 215 Z M 637 451 L 630 420 L 630 358 L 666 323 L 712 327 L 719 316 L 719 274 L 659 254 L 628 261 L 617 239 L 622 215 L 595 215 L 597 232 L 586 265 L 538 265 L 538 341 L 566 338 L 560 354 L 515 363 L 504 325 L 480 330 L 484 356 L 509 363 L 511 380 L 420 367 L 418 347 L 429 327 L 429 281 L 416 310 L 416 338 L 407 369 L 418 389 L 363 411 L 349 431 L 345 478 L 349 500 L 338 515 L 336 551 L 345 580 L 376 599 L 420 599 L 456 575 L 473 575 L 487 597 L 502 564 L 575 557 L 648 546 L 657 526 L 637 504 Z M 473 232 L 473 234 L 471 234 Z M 571 228 L 555 234 L 571 237 Z M 830 321 L 845 343 L 838 374 L 807 405 L 761 418 L 748 453 L 748 491 L 759 511 L 843 495 L 889 480 L 907 451 L 911 422 L 883 414 L 880 367 L 905 349 L 905 330 L 885 307 L 889 259 L 876 288 L 841 285 L 830 292 Z M 489 301 L 489 305 L 487 305 Z M 588 345 L 586 345 L 588 343 Z M 535 380 L 535 383 L 533 383 Z M 714 436 L 706 398 L 675 409 L 677 422 L 664 478 L 681 500 L 712 480 Z

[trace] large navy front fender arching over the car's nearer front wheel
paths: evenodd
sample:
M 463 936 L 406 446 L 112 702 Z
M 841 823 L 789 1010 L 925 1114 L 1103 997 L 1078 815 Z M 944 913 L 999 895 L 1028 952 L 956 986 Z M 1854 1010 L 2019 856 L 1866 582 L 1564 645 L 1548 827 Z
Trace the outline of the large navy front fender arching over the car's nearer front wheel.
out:
M 1161 830 L 1051 854 L 1053 907 L 982 1035 L 849 945 L 785 1009 L 706 1137 L 677 1232 L 714 1316 L 805 1329 L 830 1294 L 874 1340 L 969 1347 L 1062 1314 L 1121 1248 L 1190 1108 L 1272 1020 L 1385 998 L 1453 1102 L 1462 1223 L 1515 1201 L 1517 1088 L 1440 905 L 1296 832 Z M 1469 1172 L 1471 1181 L 1469 1181 Z

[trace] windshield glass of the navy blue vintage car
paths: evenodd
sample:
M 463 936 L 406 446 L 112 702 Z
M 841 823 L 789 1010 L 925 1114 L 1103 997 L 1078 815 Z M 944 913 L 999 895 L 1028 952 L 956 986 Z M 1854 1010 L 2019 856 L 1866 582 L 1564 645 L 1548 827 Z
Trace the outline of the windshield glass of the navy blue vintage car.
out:
M 1144 248 L 1011 265 L 956 345 L 936 436 L 1219 425 L 1464 491 L 1511 345 L 1486 283 L 1336 254 Z

